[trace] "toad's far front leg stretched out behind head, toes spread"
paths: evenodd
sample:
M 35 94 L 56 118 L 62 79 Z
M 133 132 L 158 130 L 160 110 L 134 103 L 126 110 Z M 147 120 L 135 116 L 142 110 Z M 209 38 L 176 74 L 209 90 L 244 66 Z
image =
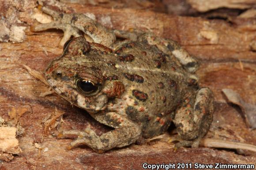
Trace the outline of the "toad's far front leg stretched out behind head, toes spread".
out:
M 103 44 L 110 47 L 114 43 L 116 37 L 114 33 L 107 30 L 104 26 L 87 17 L 83 14 L 64 14 L 51 10 L 41 5 L 38 9 L 51 15 L 54 18 L 53 22 L 33 25 L 32 31 L 43 31 L 51 28 L 60 29 L 64 31 L 64 37 L 60 41 L 60 46 L 63 46 L 68 39 L 73 37 L 79 37 L 82 33 L 89 36 L 92 41 Z

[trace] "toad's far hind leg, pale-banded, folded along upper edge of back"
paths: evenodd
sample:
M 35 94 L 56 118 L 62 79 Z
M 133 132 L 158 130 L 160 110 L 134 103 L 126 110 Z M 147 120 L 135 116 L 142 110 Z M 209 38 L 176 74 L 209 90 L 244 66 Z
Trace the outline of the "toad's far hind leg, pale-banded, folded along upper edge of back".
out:
M 162 52 L 170 56 L 174 55 L 182 67 L 190 73 L 194 73 L 199 68 L 198 60 L 173 40 L 157 37 L 153 33 L 144 33 L 139 36 L 139 41 L 146 41 L 148 44 L 156 45 Z

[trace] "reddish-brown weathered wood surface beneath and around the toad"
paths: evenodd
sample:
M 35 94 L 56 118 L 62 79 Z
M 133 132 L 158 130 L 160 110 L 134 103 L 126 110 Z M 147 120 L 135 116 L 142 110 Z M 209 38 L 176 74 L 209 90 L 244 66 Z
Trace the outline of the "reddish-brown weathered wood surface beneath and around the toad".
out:
M 61 123 L 63 128 L 83 129 L 91 124 L 98 134 L 109 129 L 59 96 L 39 96 L 48 87 L 28 74 L 22 65 L 43 71 L 50 60 L 61 54 L 58 43 L 63 33 L 56 30 L 30 32 L 32 6 L 20 15 L 21 20 L 27 23 L 26 39 L 21 43 L 0 43 L 0 116 L 5 121 L 13 121 L 8 115 L 10 111 L 26 110 L 19 118 L 19 125 L 25 129 L 25 133 L 18 138 L 23 153 L 15 155 L 11 162 L 2 162 L 0 170 L 142 169 L 144 162 L 256 162 L 255 153 L 251 152 L 242 156 L 233 150 L 213 148 L 174 150 L 173 144 L 166 140 L 140 146 L 133 144 L 100 155 L 87 147 L 67 151 L 65 147 L 71 140 L 56 139 L 55 128 L 42 138 L 42 120 L 56 110 L 65 112 L 64 122 Z M 230 24 L 222 20 L 171 16 L 136 9 L 108 9 L 79 4 L 66 6 L 75 12 L 92 13 L 108 27 L 150 30 L 158 36 L 178 41 L 201 60 L 200 70 L 197 71 L 200 85 L 210 87 L 215 94 L 216 111 L 207 137 L 256 145 L 256 130 L 248 129 L 241 111 L 227 104 L 221 92 L 221 89 L 230 88 L 246 102 L 256 103 L 256 49 L 252 45 L 256 41 L 255 19 L 237 19 L 236 24 Z M 1 7 L 0 11 L 5 8 Z M 105 22 L 104 18 L 110 18 L 109 22 Z

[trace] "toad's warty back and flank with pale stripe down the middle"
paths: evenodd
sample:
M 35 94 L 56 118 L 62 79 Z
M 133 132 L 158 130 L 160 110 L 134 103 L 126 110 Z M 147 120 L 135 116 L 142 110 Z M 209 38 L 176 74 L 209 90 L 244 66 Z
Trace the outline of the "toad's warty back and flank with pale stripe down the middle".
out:
M 125 91 L 108 105 L 109 111 L 127 115 L 142 127 L 144 137 L 165 131 L 174 111 L 187 97 L 195 94 L 194 74 L 184 70 L 174 56 L 164 54 L 143 42 L 123 44 L 115 54 L 99 44 L 76 63 L 96 67 L 105 81 L 120 81 Z

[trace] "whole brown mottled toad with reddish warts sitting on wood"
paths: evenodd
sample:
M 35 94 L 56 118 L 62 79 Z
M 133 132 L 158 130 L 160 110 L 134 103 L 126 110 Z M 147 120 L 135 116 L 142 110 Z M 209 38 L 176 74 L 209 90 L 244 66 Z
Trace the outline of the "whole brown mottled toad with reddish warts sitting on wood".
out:
M 60 15 L 46 7 L 41 10 L 55 17 L 55 21 L 33 26 L 34 31 L 58 27 L 67 39 L 75 34 L 66 27 L 83 33 L 90 26 L 94 28 L 89 30 L 94 42 L 79 35 L 68 41 L 63 55 L 46 68 L 45 78 L 66 100 L 98 122 L 115 128 L 101 136 L 89 127 L 84 131 L 63 131 L 59 137 L 78 136 L 69 148 L 86 144 L 104 152 L 142 137 L 160 135 L 171 122 L 184 140 L 202 138 L 207 133 L 214 97 L 210 89 L 199 87 L 194 74 L 199 65 L 177 43 L 152 33 L 107 30 L 82 14 Z M 70 21 L 72 18 L 75 21 Z M 130 40 L 115 43 L 115 36 L 120 37 L 121 33 Z M 90 82 L 96 89 L 84 92 L 78 80 Z

